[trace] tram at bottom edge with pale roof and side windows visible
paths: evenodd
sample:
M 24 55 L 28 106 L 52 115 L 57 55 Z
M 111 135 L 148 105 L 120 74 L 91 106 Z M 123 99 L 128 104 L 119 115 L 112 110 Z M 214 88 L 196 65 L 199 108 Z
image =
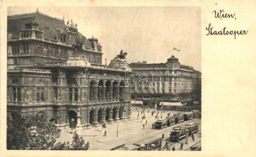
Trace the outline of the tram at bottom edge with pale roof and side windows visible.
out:
M 156 150 L 162 146 L 161 137 L 150 137 L 137 143 L 133 143 L 135 146 L 139 146 L 140 150 Z

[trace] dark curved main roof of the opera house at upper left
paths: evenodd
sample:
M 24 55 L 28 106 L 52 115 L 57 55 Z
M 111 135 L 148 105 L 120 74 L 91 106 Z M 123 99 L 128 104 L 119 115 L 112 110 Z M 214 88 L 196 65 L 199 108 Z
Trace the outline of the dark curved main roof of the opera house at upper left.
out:
M 39 24 L 41 31 L 44 31 L 44 37 L 54 39 L 57 32 L 56 29 L 64 30 L 66 28 L 65 21 L 59 18 L 53 18 L 40 12 L 33 12 L 28 14 L 18 14 L 7 16 L 7 32 L 12 33 L 12 37 L 20 36 L 20 30 L 25 28 L 25 23 L 36 22 Z M 78 35 L 82 35 L 77 32 Z M 85 38 L 84 46 L 92 48 L 91 42 Z

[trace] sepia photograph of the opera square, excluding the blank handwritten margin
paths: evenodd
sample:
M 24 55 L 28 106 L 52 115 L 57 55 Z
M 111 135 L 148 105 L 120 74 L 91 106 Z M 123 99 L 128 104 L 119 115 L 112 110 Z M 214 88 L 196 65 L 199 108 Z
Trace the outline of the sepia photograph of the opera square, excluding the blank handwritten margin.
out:
M 201 151 L 201 7 L 8 7 L 7 150 Z

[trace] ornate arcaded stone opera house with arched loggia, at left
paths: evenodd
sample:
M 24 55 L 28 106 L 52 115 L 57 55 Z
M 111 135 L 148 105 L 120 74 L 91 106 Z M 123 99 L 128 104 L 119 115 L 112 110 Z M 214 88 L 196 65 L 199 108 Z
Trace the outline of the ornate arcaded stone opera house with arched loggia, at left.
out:
M 87 39 L 72 20 L 65 24 L 38 11 L 7 20 L 8 118 L 53 118 L 63 127 L 73 118 L 77 128 L 130 118 L 130 88 L 112 82 L 121 74 L 124 84 L 125 68 L 102 65 L 98 39 Z M 92 74 L 99 76 L 98 87 L 89 83 Z

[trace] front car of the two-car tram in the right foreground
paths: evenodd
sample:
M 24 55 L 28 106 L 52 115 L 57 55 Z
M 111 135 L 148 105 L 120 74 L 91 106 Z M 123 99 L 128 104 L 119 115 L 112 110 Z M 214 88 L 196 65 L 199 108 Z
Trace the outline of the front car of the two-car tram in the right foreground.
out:
M 184 139 L 186 137 L 186 129 L 188 129 L 186 126 L 173 127 L 170 134 L 171 142 L 178 142 Z

